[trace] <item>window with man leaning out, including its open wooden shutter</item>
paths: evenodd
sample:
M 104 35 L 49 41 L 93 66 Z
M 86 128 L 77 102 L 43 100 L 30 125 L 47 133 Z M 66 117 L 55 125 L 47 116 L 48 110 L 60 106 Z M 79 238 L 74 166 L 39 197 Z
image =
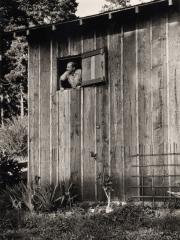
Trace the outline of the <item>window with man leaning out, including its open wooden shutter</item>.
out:
M 58 58 L 58 90 L 106 83 L 106 57 L 106 50 L 101 48 L 82 55 Z M 72 74 L 68 74 L 72 68 Z

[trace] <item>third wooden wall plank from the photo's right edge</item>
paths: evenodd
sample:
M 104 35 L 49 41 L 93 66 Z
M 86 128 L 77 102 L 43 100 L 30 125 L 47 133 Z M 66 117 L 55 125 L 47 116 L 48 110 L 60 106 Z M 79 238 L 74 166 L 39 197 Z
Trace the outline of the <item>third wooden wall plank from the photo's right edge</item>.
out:
M 141 194 L 151 195 L 152 178 L 147 178 L 147 175 L 152 175 L 152 79 L 151 79 L 151 37 L 152 24 L 150 17 L 141 16 L 137 24 L 137 51 L 138 51 L 138 128 L 139 128 L 139 145 L 140 154 L 147 156 L 139 157 L 139 174 L 141 181 L 139 185 L 148 186 L 140 189 Z M 138 163 L 138 162 L 137 162 Z M 136 159 L 133 158 L 133 164 L 138 167 Z M 136 174 L 138 175 L 138 174 Z M 145 178 L 144 178 L 145 176 Z

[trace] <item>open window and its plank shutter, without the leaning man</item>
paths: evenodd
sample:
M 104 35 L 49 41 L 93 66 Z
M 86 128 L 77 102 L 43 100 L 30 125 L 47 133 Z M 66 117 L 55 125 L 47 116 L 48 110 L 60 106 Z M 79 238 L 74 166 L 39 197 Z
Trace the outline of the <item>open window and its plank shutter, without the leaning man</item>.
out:
M 67 81 L 60 81 L 69 62 L 74 62 L 76 69 L 82 72 L 81 86 L 90 86 L 106 82 L 106 50 L 104 48 L 83 53 L 82 55 L 58 58 L 58 89 L 72 88 Z

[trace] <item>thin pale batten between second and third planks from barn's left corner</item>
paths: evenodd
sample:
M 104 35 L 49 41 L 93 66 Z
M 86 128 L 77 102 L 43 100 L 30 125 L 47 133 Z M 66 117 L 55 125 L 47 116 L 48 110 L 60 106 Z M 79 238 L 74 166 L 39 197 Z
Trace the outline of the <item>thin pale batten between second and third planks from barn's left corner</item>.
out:
M 52 183 L 52 70 L 53 70 L 53 42 L 52 40 L 50 41 L 50 184 Z

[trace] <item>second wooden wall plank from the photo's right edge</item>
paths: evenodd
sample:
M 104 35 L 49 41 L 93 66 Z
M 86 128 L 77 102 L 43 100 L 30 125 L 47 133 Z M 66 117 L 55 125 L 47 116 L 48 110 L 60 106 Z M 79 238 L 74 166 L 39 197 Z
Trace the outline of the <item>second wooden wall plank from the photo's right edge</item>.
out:
M 167 157 L 161 156 L 168 139 L 167 129 L 167 70 L 166 70 L 166 17 L 154 16 L 152 19 L 152 97 L 153 97 L 153 157 L 155 164 L 165 164 Z M 167 168 L 154 168 L 154 175 L 166 175 Z M 155 178 L 154 186 L 167 185 L 165 179 Z M 154 195 L 164 195 L 164 189 L 155 189 Z

